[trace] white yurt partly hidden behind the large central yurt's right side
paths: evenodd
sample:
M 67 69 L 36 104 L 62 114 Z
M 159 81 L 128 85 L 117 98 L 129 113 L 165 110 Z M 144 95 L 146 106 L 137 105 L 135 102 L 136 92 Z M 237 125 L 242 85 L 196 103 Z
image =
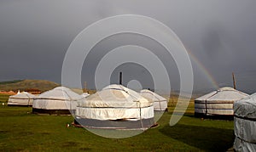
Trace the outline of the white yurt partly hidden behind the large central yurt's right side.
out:
M 165 111 L 167 109 L 167 100 L 159 94 L 147 89 L 141 90 L 140 93 L 145 99 L 148 99 L 148 101 L 153 102 L 154 110 Z

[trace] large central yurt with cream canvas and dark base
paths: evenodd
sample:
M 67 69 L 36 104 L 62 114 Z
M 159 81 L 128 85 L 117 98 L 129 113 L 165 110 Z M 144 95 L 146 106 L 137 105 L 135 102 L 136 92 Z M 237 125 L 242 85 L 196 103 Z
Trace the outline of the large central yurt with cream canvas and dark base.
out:
M 75 123 L 89 128 L 148 128 L 154 125 L 154 107 L 139 93 L 110 85 L 79 102 Z

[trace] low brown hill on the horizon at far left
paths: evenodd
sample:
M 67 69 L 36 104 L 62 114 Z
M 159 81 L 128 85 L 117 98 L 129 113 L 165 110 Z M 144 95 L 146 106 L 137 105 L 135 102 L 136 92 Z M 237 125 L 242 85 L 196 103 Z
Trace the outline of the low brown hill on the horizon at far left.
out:
M 49 82 L 45 80 L 15 80 L 8 82 L 0 82 L 1 91 L 25 91 L 26 89 L 39 89 L 41 92 L 45 92 L 54 87 L 58 87 L 60 84 L 55 82 Z

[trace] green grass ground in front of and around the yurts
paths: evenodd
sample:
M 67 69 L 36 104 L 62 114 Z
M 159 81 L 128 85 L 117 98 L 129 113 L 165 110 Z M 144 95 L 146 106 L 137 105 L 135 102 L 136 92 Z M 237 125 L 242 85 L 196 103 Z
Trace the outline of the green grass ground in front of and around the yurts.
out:
M 233 121 L 201 121 L 191 113 L 170 127 L 171 111 L 161 117 L 159 127 L 131 138 L 113 139 L 84 128 L 67 128 L 72 116 L 33 115 L 31 111 L 27 107 L 0 106 L 0 150 L 225 151 L 234 141 Z

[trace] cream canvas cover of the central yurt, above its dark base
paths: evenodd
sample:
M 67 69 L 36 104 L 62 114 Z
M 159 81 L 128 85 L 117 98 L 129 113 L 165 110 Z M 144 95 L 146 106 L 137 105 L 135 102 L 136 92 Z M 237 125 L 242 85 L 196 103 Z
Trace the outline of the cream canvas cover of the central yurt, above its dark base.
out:
M 79 101 L 76 115 L 96 120 L 148 119 L 154 117 L 154 107 L 139 93 L 121 85 L 110 85 Z

